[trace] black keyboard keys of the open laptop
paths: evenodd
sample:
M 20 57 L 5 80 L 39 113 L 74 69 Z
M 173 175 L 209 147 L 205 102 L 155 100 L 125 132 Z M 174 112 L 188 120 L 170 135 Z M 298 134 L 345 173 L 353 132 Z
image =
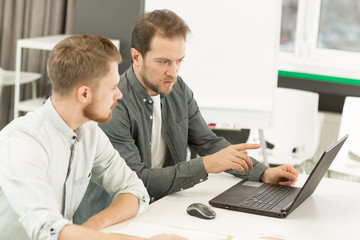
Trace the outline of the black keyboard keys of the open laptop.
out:
M 269 210 L 278 204 L 282 199 L 292 193 L 296 188 L 282 185 L 268 185 L 248 197 L 240 205 L 257 209 Z

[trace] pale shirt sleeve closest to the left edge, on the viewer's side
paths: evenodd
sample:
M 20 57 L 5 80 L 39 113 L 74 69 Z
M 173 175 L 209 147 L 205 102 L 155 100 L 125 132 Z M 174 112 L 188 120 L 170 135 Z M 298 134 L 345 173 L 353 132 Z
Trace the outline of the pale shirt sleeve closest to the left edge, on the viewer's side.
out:
M 19 140 L 26 142 L 21 144 L 21 151 Z M 8 211 L 18 215 L 31 239 L 57 239 L 61 229 L 72 224 L 60 213 L 56 194 L 48 183 L 48 164 L 46 152 L 29 134 L 14 131 L 1 141 L 0 190 L 11 206 Z

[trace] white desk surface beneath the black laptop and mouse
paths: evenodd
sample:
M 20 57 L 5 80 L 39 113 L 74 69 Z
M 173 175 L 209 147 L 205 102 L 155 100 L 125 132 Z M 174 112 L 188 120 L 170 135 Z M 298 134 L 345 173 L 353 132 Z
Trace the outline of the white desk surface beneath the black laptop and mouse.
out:
M 305 180 L 301 176 L 297 185 Z M 314 237 L 314 239 L 360 239 L 360 183 L 324 178 L 312 196 L 287 218 L 277 219 L 213 208 L 217 216 L 204 220 L 188 215 L 186 207 L 208 201 L 239 181 L 228 174 L 211 174 L 193 188 L 171 194 L 149 206 L 146 213 L 104 229 L 121 229 L 131 221 L 161 224 L 242 236 L 245 233 Z M 353 190 L 353 192 L 352 192 Z M 141 229 L 139 230 L 141 231 Z M 287 239 L 287 238 L 285 238 Z

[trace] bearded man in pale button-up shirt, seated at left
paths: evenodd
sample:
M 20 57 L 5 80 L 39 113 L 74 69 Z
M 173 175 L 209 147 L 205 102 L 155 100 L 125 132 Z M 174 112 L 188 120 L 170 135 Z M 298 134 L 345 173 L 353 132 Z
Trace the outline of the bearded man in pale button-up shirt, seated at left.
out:
M 0 239 L 133 239 L 97 231 L 149 203 L 142 181 L 96 123 L 109 121 L 122 97 L 120 61 L 111 41 L 94 35 L 69 37 L 51 51 L 52 97 L 0 132 Z M 113 201 L 74 225 L 90 180 Z

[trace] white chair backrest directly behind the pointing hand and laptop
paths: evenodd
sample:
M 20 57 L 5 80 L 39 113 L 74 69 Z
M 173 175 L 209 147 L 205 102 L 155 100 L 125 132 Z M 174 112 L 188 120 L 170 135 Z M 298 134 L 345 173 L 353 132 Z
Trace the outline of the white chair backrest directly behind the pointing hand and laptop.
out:
M 319 137 L 318 103 L 318 93 L 276 89 L 272 127 L 264 131 L 265 139 L 274 144 L 274 152 L 290 158 L 313 157 Z

